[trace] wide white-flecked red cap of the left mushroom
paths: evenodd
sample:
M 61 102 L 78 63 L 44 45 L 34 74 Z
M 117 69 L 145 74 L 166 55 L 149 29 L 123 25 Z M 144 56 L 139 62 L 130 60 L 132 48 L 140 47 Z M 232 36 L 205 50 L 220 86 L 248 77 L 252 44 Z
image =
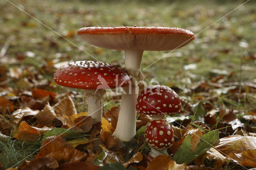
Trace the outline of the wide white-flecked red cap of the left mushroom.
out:
M 98 61 L 74 61 L 58 69 L 54 81 L 77 89 L 114 89 L 128 85 L 130 78 L 116 65 Z

